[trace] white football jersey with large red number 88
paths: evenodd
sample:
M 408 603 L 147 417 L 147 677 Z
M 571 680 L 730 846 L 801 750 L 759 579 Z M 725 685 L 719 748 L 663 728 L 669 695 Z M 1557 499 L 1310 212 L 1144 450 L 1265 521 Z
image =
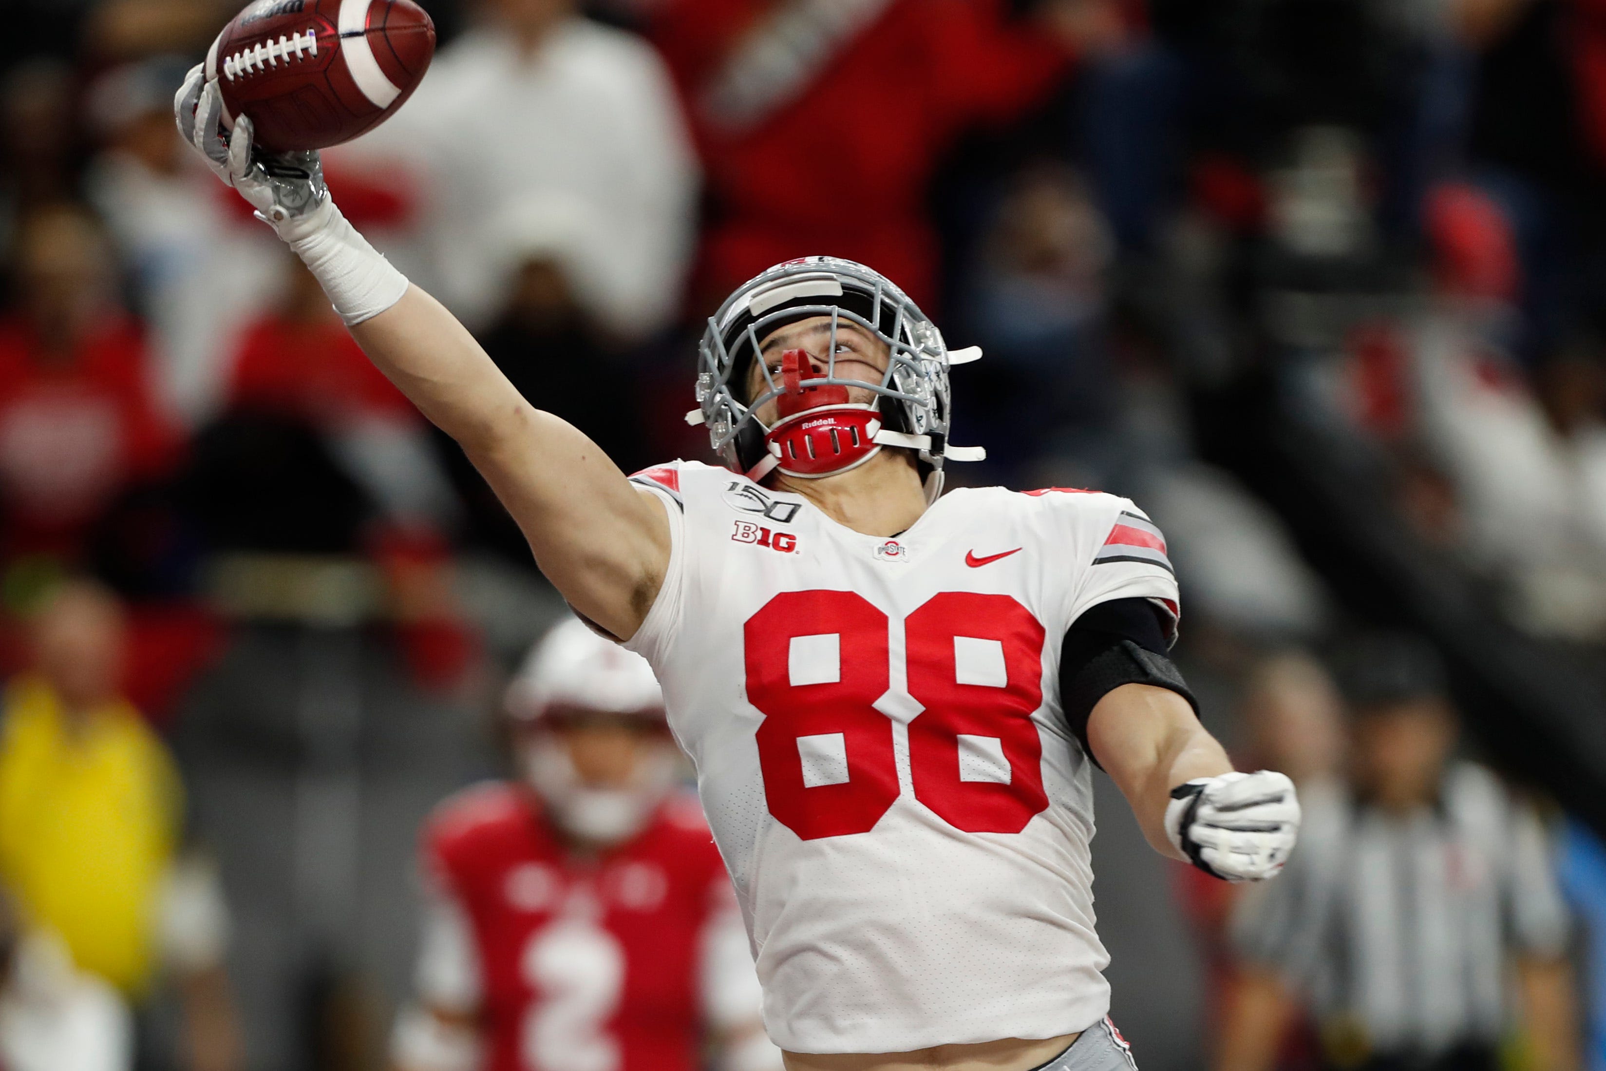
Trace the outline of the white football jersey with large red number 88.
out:
M 1110 1004 L 1089 761 L 1060 642 L 1089 607 L 1177 612 L 1164 541 L 1113 495 L 956 490 L 893 540 L 697 462 L 626 644 L 731 870 L 792 1052 L 1055 1037 Z

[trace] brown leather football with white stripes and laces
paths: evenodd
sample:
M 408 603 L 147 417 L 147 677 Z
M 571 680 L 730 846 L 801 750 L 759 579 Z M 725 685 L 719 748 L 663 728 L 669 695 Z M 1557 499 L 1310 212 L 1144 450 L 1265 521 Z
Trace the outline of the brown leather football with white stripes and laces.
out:
M 212 42 L 206 75 L 225 122 L 247 116 L 262 148 L 321 149 L 392 116 L 434 55 L 435 24 L 413 0 L 257 0 Z

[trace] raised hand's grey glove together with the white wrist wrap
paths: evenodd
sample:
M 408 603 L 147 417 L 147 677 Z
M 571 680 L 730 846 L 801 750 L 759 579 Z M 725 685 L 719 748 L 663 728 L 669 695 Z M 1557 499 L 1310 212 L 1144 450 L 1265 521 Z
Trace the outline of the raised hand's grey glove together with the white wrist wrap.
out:
M 233 132 L 225 130 L 223 93 L 199 66 L 173 98 L 173 119 L 212 173 L 238 189 L 257 209 L 257 218 L 296 250 L 347 326 L 373 320 L 402 300 L 406 276 L 334 207 L 316 151 L 267 153 L 251 143 L 246 116 L 234 119 Z

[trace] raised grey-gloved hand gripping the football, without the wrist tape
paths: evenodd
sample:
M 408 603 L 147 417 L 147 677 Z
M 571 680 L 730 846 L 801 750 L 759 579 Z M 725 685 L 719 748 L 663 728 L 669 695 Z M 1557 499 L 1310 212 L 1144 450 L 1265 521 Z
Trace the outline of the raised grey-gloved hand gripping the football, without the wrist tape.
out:
M 223 93 L 217 82 L 207 82 L 202 66 L 191 69 L 178 88 L 173 119 L 212 173 L 238 189 L 279 238 L 297 238 L 326 215 L 318 212 L 329 204 L 318 153 L 265 153 L 252 146 L 246 116 L 234 119 L 233 132 L 225 130 Z

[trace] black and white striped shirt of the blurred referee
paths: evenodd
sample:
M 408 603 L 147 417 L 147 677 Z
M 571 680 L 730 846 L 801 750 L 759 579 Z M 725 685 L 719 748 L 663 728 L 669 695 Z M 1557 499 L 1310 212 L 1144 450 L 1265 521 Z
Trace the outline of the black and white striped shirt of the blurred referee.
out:
M 1325 1026 L 1381 1053 L 1492 1044 L 1514 954 L 1567 935 L 1537 817 L 1473 764 L 1437 806 L 1389 814 L 1336 787 L 1301 787 L 1304 825 L 1275 882 L 1235 909 L 1233 943 L 1280 971 Z

